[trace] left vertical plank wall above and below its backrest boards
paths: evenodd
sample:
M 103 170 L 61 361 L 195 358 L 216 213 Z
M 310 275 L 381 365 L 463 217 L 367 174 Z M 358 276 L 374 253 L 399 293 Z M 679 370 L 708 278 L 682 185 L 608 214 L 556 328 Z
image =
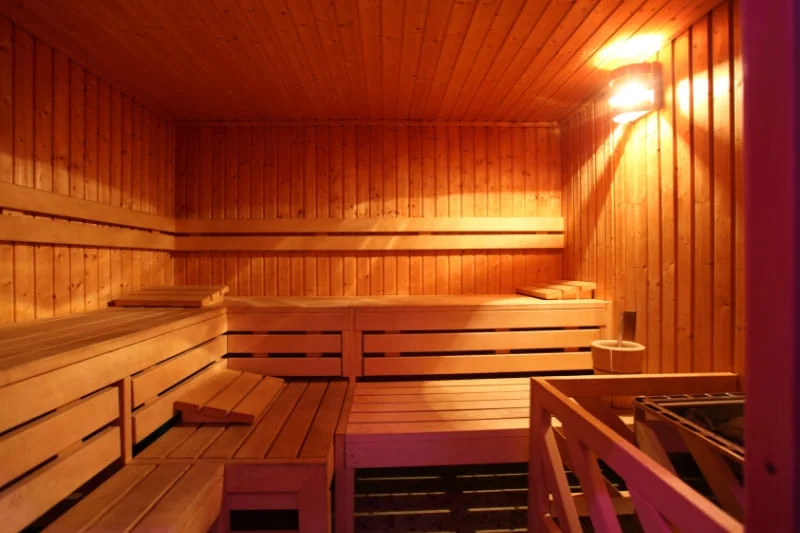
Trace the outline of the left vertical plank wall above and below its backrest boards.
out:
M 172 216 L 174 137 L 170 123 L 0 17 L 0 181 Z M 172 282 L 168 252 L 0 242 L 0 324 Z

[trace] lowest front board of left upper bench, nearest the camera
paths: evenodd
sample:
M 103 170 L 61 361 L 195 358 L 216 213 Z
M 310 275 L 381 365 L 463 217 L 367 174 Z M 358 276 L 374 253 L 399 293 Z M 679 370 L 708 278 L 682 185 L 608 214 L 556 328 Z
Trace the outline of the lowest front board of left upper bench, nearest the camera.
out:
M 106 429 L 0 493 L 3 528 L 21 530 L 118 459 L 120 439 L 119 428 Z

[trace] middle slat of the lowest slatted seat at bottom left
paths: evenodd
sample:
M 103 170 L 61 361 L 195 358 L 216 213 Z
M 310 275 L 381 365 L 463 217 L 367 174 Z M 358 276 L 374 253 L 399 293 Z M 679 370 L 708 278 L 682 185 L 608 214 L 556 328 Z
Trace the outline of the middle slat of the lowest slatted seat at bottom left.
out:
M 191 465 L 159 465 L 131 491 L 123 496 L 117 505 L 100 520 L 86 530 L 86 533 L 107 533 L 109 531 L 129 531 L 158 502 L 167 491 L 178 482 Z

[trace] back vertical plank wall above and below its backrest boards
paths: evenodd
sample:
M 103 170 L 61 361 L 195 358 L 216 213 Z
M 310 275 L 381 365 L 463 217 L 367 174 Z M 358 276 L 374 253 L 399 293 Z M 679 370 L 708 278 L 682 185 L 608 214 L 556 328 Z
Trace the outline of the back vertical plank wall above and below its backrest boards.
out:
M 561 216 L 555 127 L 179 126 L 177 216 Z M 177 283 L 238 295 L 510 293 L 561 275 L 561 250 L 177 253 Z

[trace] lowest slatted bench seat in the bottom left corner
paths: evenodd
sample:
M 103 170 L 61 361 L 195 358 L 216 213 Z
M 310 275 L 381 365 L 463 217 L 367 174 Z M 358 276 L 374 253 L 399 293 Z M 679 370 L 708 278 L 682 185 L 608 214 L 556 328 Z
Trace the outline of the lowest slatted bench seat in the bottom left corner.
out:
M 128 465 L 45 531 L 206 533 L 220 512 L 222 472 L 209 463 Z

